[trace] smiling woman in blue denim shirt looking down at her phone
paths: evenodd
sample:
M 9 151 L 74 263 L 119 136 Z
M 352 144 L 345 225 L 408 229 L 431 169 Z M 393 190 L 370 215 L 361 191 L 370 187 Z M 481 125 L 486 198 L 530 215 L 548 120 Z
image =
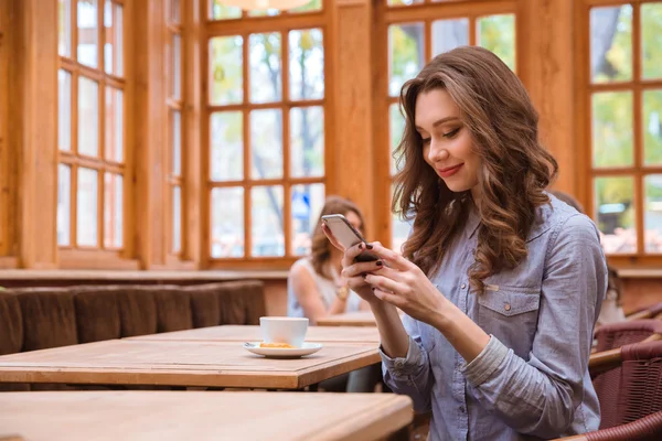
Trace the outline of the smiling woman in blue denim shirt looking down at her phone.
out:
M 394 208 L 413 230 L 403 256 L 374 243 L 378 261 L 353 261 L 364 245 L 342 259 L 375 314 L 386 385 L 431 409 L 431 440 L 597 429 L 587 364 L 605 257 L 591 220 L 545 192 L 557 164 L 523 85 L 459 47 L 408 80 L 401 106 Z

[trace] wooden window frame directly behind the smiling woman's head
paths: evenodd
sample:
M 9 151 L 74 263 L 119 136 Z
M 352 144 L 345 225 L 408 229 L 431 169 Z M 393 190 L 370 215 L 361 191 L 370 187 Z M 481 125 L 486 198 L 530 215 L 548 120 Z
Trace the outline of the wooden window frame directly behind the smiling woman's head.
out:
M 427 64 L 433 56 L 431 28 L 433 22 L 448 19 L 468 19 L 469 20 L 469 44 L 477 42 L 476 23 L 479 18 L 487 15 L 513 14 L 515 15 L 515 69 L 520 73 L 522 69 L 522 3 L 519 0 L 457 0 L 452 2 L 433 2 L 425 0 L 423 3 L 409 6 L 388 6 L 386 0 L 375 2 L 375 23 L 373 45 L 376 47 L 376 57 L 374 68 L 378 75 L 375 76 L 375 189 L 378 194 L 377 201 L 385 201 L 386 204 L 376 206 L 377 217 L 387 219 L 381 222 L 377 226 L 377 236 L 387 247 L 393 246 L 393 222 L 391 212 L 392 184 L 391 175 L 391 119 L 389 107 L 398 103 L 398 97 L 391 96 L 388 92 L 389 79 L 389 53 L 388 53 L 388 26 L 398 23 L 424 23 L 424 55 L 423 65 Z M 384 121 L 388 130 L 384 130 Z M 384 160 L 385 159 L 385 160 Z

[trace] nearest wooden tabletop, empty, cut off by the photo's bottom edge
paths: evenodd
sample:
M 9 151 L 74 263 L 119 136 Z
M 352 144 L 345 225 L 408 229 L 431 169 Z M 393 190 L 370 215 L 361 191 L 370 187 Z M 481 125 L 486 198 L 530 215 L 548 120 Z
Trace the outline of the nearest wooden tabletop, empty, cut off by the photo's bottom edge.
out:
M 413 419 L 395 394 L 57 391 L 0 394 L 0 438 L 376 440 Z

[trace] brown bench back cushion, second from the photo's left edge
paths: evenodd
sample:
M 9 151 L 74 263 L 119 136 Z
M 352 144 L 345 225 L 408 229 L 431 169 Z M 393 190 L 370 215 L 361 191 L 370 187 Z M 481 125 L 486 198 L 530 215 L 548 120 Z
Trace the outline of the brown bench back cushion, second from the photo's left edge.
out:
M 22 351 L 78 343 L 74 295 L 66 288 L 21 288 L 17 293 L 23 315 Z

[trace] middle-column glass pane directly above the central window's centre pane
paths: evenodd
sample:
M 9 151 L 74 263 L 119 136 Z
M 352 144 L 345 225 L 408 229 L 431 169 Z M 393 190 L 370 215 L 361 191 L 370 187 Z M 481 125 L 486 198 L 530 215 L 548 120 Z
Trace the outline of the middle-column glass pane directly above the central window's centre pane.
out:
M 250 34 L 250 103 L 279 101 L 282 98 L 280 33 Z

